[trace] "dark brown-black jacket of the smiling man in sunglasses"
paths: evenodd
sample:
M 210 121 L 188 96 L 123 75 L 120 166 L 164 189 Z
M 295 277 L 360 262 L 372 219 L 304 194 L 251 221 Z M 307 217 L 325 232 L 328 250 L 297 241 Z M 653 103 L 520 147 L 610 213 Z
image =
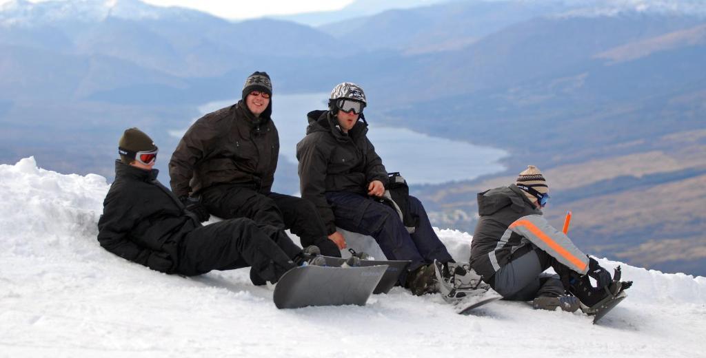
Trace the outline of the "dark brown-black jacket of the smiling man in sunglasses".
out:
M 195 195 L 218 184 L 241 184 L 268 194 L 280 154 L 271 112 L 270 101 L 257 118 L 241 100 L 193 123 L 169 161 L 174 195 Z

